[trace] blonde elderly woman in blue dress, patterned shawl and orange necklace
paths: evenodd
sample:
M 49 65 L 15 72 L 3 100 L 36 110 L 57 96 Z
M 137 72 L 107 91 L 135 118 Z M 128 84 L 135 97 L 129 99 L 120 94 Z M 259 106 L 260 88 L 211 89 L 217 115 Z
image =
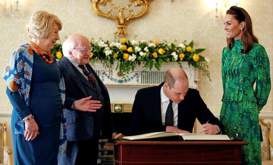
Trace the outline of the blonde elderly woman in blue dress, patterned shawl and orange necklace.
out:
M 64 80 L 50 53 L 62 30 L 56 15 L 36 11 L 26 30 L 30 42 L 15 50 L 2 75 L 13 106 L 14 162 L 53 165 L 57 164 L 57 154 L 65 154 L 66 150 L 64 108 L 95 112 L 101 104 L 91 97 L 65 97 Z

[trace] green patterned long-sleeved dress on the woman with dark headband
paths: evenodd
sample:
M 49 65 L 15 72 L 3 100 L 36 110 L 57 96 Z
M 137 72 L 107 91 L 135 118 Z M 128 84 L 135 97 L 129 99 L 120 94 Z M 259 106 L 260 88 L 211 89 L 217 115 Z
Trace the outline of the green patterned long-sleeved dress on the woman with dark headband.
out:
M 271 88 L 269 59 L 265 48 L 253 43 L 248 54 L 242 54 L 241 40 L 235 40 L 231 50 L 222 52 L 224 94 L 220 121 L 225 134 L 242 136 L 247 146 L 242 147 L 243 164 L 261 164 L 259 112 L 265 106 Z M 256 82 L 255 91 L 253 90 Z

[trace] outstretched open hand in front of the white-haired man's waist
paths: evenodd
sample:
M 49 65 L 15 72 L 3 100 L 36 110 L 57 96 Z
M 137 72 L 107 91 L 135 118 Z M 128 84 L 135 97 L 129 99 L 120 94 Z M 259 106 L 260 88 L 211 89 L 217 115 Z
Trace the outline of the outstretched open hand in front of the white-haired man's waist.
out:
M 102 104 L 97 100 L 90 100 L 92 96 L 77 100 L 75 103 L 76 109 L 80 111 L 96 112 L 96 109 L 100 109 Z

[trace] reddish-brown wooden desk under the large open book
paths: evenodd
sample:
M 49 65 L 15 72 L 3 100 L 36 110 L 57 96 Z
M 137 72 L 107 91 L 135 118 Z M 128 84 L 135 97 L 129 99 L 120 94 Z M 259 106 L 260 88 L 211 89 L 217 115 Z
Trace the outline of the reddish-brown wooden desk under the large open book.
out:
M 119 141 L 114 164 L 241 164 L 244 141 Z

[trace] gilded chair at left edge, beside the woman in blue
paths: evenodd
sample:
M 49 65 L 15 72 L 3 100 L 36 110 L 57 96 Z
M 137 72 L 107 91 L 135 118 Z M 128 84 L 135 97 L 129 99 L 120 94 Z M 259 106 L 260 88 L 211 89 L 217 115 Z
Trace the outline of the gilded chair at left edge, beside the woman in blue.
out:
M 0 165 L 11 165 L 12 150 L 7 146 L 7 122 L 0 123 Z

